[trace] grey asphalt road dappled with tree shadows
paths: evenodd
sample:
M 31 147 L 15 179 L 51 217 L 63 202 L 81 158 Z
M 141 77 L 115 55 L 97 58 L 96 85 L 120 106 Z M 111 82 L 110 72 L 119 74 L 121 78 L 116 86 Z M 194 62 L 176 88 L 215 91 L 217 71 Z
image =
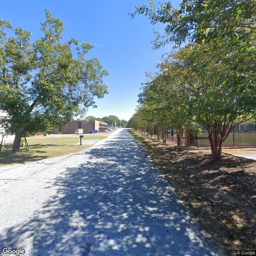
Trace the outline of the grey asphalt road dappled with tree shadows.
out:
M 1 250 L 220 255 L 126 129 L 76 154 L 0 168 L 0 202 Z

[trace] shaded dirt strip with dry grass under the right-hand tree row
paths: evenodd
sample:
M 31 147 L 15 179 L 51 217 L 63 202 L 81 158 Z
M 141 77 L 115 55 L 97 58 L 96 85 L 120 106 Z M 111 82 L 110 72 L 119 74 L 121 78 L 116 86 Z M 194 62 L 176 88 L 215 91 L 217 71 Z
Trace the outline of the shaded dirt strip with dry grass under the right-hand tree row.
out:
M 254 160 L 223 154 L 222 162 L 214 163 L 210 150 L 178 150 L 173 142 L 164 145 L 156 137 L 152 140 L 130 132 L 190 208 L 202 234 L 214 240 L 227 255 L 235 255 L 236 249 L 256 248 Z M 246 153 L 250 150 L 244 149 Z M 224 152 L 233 153 L 229 149 Z

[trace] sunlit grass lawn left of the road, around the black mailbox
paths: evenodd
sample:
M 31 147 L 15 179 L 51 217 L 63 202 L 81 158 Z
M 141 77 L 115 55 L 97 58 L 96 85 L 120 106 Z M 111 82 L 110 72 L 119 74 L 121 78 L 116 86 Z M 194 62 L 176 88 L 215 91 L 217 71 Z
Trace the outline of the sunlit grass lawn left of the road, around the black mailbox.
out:
M 84 136 L 82 140 L 102 140 L 106 137 L 107 136 L 105 134 Z M 27 141 L 30 152 L 26 150 L 25 143 L 23 143 L 24 146 L 20 148 L 20 153 L 17 155 L 12 155 L 12 148 L 2 147 L 0 153 L 0 166 L 6 164 L 23 164 L 25 162 L 38 161 L 53 156 L 62 156 L 90 147 L 90 145 L 73 145 L 80 142 L 79 136 L 62 138 L 30 137 L 27 138 Z

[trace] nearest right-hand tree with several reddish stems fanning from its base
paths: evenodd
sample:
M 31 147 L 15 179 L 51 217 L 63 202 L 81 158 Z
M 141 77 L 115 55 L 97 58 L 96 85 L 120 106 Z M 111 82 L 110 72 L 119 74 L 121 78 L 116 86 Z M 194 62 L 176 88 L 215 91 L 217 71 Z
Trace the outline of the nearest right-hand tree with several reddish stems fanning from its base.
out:
M 214 161 L 221 160 L 222 144 L 230 132 L 255 116 L 256 106 L 256 84 L 250 68 L 244 70 L 240 67 L 243 64 L 234 68 L 232 61 L 219 57 L 217 49 L 195 44 L 173 54 L 174 62 L 184 69 L 180 74 L 186 81 L 184 91 L 190 91 L 194 120 L 208 131 Z

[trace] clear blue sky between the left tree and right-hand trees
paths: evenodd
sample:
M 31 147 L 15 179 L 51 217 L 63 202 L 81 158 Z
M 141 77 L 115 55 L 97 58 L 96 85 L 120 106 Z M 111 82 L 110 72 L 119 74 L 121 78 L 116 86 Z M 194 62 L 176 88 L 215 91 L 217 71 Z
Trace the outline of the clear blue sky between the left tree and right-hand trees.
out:
M 130 19 L 128 12 L 144 4 L 148 0 L 1 1 L 0 19 L 32 32 L 34 40 L 42 35 L 40 22 L 45 20 L 44 9 L 48 8 L 64 22 L 64 40 L 74 37 L 93 44 L 88 56 L 97 57 L 109 72 L 104 79 L 109 94 L 96 99 L 98 107 L 89 108 L 87 115 L 114 114 L 128 120 L 137 105 L 141 83 L 146 81 L 145 72 L 154 72 L 162 54 L 171 50 L 170 45 L 152 49 L 153 29 L 163 31 L 161 24 L 153 26 L 142 15 Z

